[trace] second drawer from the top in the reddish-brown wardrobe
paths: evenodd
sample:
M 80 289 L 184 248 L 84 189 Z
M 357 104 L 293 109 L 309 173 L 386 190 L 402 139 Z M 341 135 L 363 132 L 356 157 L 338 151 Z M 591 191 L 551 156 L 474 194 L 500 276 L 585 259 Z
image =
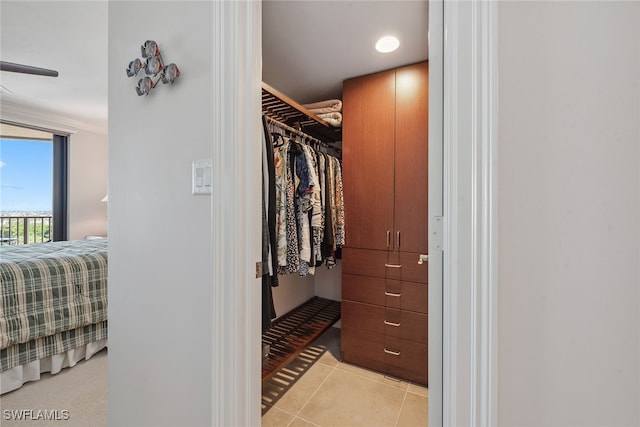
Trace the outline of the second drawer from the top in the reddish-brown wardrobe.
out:
M 427 314 L 428 287 L 380 277 L 342 274 L 342 299 Z

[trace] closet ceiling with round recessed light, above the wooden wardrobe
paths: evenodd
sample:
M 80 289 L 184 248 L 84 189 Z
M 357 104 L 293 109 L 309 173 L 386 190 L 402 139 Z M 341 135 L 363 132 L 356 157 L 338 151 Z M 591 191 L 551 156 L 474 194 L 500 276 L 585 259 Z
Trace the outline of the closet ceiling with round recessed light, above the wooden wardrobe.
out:
M 426 1 L 271 1 L 262 6 L 262 79 L 299 103 L 340 98 L 342 81 L 427 59 Z M 376 41 L 394 35 L 387 54 Z

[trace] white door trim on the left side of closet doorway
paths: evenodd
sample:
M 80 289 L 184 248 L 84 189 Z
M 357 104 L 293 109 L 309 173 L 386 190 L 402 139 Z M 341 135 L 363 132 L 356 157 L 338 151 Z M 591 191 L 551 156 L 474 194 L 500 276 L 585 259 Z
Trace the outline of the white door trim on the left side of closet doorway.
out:
M 212 2 L 213 426 L 261 423 L 262 3 Z

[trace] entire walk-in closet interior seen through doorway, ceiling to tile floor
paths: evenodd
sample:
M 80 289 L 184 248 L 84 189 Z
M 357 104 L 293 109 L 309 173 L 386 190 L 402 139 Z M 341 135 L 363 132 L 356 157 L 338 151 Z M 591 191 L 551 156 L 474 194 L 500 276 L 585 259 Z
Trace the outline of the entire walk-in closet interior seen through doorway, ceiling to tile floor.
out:
M 263 2 L 263 426 L 427 423 L 427 26 Z

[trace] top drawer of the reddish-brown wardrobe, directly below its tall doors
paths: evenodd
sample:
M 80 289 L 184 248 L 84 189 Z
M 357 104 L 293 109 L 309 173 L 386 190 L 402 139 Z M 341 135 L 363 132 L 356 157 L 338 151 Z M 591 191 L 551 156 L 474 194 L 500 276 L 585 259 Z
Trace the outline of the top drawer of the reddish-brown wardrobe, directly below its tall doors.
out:
M 342 249 L 342 272 L 408 282 L 427 283 L 427 263 L 418 264 L 413 252 Z

